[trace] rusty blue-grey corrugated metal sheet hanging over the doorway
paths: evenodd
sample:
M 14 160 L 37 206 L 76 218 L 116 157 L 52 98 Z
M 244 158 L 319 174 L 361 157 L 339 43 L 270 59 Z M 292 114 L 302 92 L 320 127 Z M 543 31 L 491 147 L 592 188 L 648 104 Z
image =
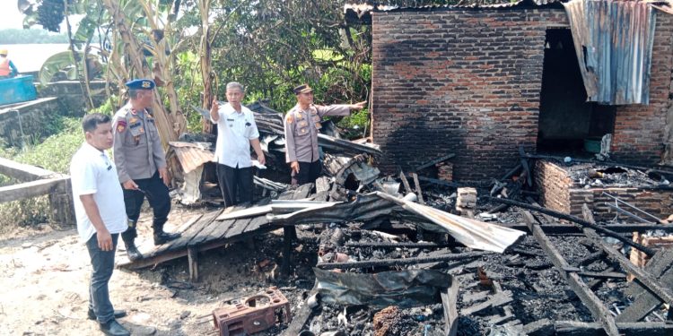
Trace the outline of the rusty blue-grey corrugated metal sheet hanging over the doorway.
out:
M 572 0 L 564 4 L 587 100 L 649 104 L 656 11 L 640 1 Z

